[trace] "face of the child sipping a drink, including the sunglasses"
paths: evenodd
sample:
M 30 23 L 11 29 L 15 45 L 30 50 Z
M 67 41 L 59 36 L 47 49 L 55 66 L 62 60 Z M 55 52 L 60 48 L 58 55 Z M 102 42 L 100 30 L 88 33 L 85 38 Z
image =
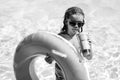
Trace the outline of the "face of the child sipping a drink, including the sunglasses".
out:
M 67 21 L 68 34 L 74 36 L 83 26 L 84 16 L 82 14 L 71 15 Z

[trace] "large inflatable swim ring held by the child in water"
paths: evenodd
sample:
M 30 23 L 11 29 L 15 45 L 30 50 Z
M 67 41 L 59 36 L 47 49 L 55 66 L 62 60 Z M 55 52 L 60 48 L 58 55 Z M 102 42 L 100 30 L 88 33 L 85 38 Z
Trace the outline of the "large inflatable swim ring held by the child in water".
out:
M 13 63 L 16 80 L 39 80 L 33 63 L 41 54 L 49 54 L 61 66 L 65 80 L 89 80 L 73 45 L 59 35 L 43 31 L 27 36 L 18 45 Z

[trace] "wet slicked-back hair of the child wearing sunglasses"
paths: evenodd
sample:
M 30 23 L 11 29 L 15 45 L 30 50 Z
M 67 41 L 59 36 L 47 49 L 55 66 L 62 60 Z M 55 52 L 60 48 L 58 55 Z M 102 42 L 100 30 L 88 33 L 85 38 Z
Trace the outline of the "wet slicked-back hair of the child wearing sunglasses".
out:
M 70 16 L 73 15 L 73 14 L 82 14 L 83 17 L 85 17 L 84 12 L 83 12 L 83 10 L 81 8 L 79 8 L 79 7 L 70 7 L 70 8 L 68 8 L 66 10 L 66 12 L 65 12 L 65 15 L 64 15 L 64 20 L 63 20 L 64 25 L 63 25 L 63 28 L 61 29 L 61 32 L 64 32 L 64 33 L 67 32 L 68 29 L 67 29 L 66 22 L 67 22 L 67 19 L 69 19 Z

